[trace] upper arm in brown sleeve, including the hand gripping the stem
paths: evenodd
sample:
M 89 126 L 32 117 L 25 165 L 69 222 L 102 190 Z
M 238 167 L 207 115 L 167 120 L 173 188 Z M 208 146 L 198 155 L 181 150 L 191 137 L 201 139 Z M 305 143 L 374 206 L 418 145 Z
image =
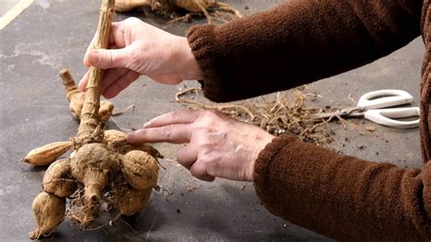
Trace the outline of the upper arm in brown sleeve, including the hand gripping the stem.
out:
M 292 0 L 225 25 L 194 26 L 187 39 L 128 18 L 113 25 L 114 50 L 90 48 L 84 62 L 109 69 L 105 97 L 146 75 L 164 84 L 200 79 L 206 97 L 232 101 L 300 86 L 387 55 L 419 35 L 421 7 L 422 0 Z M 79 84 L 82 91 L 86 79 Z

